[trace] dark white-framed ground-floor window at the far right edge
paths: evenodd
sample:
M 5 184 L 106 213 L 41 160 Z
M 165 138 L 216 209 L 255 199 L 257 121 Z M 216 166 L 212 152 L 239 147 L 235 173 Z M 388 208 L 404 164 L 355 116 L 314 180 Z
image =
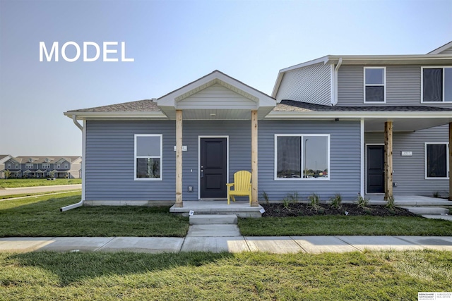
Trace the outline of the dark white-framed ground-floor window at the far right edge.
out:
M 448 144 L 425 143 L 425 178 L 448 178 Z

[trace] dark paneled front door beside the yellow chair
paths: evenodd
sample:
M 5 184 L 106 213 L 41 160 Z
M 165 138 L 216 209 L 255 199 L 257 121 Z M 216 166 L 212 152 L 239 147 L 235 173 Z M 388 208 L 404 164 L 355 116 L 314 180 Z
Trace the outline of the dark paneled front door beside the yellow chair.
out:
M 227 139 L 201 138 L 201 199 L 225 199 Z

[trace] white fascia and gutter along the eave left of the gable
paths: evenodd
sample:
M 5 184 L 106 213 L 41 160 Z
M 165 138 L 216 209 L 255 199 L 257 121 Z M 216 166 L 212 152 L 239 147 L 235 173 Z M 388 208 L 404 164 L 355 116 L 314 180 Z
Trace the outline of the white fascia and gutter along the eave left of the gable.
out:
M 136 119 L 167 119 L 167 116 L 161 111 L 155 112 L 64 112 L 64 115 L 72 118 L 76 116 L 78 120 L 136 120 Z

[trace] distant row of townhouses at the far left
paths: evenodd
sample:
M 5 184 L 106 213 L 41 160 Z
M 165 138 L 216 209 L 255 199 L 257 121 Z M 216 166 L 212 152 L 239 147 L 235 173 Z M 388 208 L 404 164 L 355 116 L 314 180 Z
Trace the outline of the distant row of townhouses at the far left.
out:
M 16 156 L 5 161 L 11 178 L 81 178 L 81 156 Z

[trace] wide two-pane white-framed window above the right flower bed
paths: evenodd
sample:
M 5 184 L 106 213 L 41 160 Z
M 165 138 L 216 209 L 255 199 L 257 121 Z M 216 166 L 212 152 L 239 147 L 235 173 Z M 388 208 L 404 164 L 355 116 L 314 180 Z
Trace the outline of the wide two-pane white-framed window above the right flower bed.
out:
M 330 135 L 275 135 L 275 180 L 328 180 Z

